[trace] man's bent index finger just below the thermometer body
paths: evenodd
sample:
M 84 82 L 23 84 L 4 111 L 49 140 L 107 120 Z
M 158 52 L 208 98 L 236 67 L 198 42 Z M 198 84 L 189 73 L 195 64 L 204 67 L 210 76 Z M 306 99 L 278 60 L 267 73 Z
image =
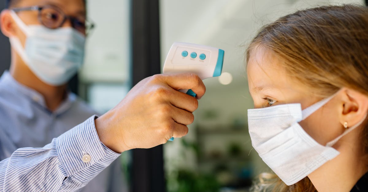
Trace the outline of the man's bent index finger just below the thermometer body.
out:
M 162 74 L 160 77 L 160 81 L 175 90 L 191 89 L 197 94 L 197 99 L 201 99 L 206 92 L 206 86 L 202 79 L 194 73 Z

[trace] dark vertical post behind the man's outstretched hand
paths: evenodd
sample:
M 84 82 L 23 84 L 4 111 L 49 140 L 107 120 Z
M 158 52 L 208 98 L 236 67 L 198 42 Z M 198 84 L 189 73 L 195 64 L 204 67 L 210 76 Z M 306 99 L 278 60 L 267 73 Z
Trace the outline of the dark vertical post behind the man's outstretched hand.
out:
M 161 72 L 159 0 L 131 0 L 132 84 Z M 132 192 L 166 191 L 163 148 L 132 150 Z

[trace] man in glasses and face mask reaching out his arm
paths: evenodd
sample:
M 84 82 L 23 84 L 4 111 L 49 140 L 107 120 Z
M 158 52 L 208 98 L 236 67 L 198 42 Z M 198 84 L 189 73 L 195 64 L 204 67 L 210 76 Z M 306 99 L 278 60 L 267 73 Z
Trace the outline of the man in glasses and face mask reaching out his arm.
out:
M 198 102 L 177 90 L 202 96 L 198 77 L 147 78 L 97 117 L 67 90 L 93 28 L 85 0 L 7 3 L 0 26 L 12 54 L 10 71 L 0 78 L 0 191 L 75 191 L 94 177 L 82 191 L 125 191 L 116 160 L 121 152 L 187 134 Z

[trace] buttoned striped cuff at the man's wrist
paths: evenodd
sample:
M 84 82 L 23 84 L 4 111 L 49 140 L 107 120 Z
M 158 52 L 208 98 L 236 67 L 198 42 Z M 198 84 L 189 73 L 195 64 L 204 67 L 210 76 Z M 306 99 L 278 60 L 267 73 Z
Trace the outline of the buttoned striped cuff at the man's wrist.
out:
M 96 115 L 56 138 L 56 150 L 68 177 L 88 182 L 121 153 L 106 147 L 99 139 L 95 127 Z

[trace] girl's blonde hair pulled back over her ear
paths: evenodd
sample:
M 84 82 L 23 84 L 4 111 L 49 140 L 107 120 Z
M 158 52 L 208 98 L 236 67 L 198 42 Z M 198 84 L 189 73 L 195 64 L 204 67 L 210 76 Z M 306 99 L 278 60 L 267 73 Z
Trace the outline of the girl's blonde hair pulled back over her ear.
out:
M 297 11 L 264 26 L 247 48 L 271 50 L 282 67 L 321 97 L 343 87 L 368 95 L 368 8 L 322 6 Z M 362 143 L 368 153 L 368 129 Z M 287 186 L 275 174 L 261 174 L 253 191 L 316 191 L 308 177 Z

